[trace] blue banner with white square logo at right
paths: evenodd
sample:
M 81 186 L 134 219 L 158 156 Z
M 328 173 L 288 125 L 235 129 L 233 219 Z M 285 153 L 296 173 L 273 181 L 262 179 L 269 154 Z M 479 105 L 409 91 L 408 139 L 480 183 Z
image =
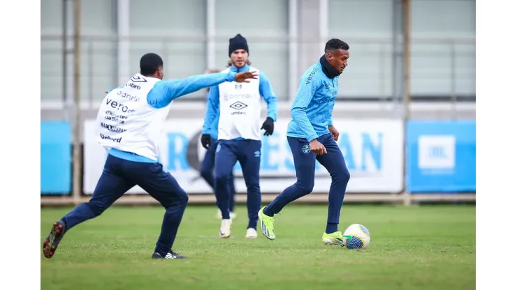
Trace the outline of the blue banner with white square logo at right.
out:
M 476 191 L 476 121 L 408 121 L 406 189 Z

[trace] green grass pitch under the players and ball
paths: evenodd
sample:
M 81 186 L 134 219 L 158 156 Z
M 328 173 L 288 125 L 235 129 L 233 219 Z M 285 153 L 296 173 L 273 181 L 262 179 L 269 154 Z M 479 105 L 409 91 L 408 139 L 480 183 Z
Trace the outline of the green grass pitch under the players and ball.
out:
M 69 210 L 41 209 L 41 243 Z M 340 231 L 361 223 L 372 234 L 362 251 L 321 243 L 323 205 L 286 206 L 275 241 L 245 238 L 245 206 L 221 239 L 215 213 L 187 206 L 173 250 L 188 259 L 157 261 L 163 208 L 110 208 L 68 231 L 52 259 L 41 254 L 41 289 L 475 289 L 475 206 L 345 204 Z

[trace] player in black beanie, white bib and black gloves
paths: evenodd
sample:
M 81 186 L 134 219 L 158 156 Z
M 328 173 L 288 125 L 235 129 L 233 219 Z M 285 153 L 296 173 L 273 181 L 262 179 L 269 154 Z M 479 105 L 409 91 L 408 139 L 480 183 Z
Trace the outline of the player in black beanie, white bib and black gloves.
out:
M 224 73 L 256 70 L 249 66 L 247 40 L 240 34 L 230 39 L 228 56 L 229 68 Z M 261 96 L 268 104 L 268 116 L 262 127 Z M 264 129 L 266 136 L 272 135 L 274 122 L 277 120 L 277 106 L 277 97 L 268 77 L 262 72 L 258 73 L 258 80 L 253 79 L 247 84 L 230 81 L 210 88 L 203 134 L 209 132 L 212 122 L 219 116 L 215 149 L 215 197 L 222 215 L 219 230 L 221 238 L 228 238 L 231 234 L 228 178 L 237 161 L 240 162 L 247 186 L 249 222 L 246 238 L 256 238 L 258 210 L 261 206 L 261 189 L 258 184 L 262 146 L 260 130 Z

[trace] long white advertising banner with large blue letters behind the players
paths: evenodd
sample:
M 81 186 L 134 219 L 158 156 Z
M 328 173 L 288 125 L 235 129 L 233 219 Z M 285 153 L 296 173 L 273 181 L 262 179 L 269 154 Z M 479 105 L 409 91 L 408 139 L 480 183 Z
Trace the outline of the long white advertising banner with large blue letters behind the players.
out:
M 262 137 L 261 191 L 280 193 L 296 181 L 293 158 L 286 139 L 288 119 L 275 123 L 275 133 Z M 106 151 L 95 141 L 94 120 L 85 121 L 84 192 L 92 194 L 101 176 Z M 403 122 L 393 119 L 335 119 L 340 130 L 337 144 L 351 173 L 347 192 L 400 192 L 403 185 Z M 202 119 L 168 119 L 160 142 L 160 162 L 189 194 L 211 193 L 199 174 L 205 155 L 201 146 Z M 239 163 L 234 167 L 235 189 L 246 192 Z M 328 192 L 330 174 L 316 162 L 314 192 Z M 129 193 L 145 193 L 138 186 Z

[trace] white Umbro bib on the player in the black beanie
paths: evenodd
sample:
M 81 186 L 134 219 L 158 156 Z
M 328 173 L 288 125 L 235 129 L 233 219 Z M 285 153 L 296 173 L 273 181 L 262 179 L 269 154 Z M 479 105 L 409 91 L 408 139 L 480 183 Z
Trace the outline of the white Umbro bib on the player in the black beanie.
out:
M 228 73 L 226 69 L 223 73 Z M 256 68 L 249 68 L 256 71 Z M 218 139 L 260 140 L 261 95 L 258 90 L 260 79 L 249 83 L 224 82 L 219 84 L 219 132 Z

